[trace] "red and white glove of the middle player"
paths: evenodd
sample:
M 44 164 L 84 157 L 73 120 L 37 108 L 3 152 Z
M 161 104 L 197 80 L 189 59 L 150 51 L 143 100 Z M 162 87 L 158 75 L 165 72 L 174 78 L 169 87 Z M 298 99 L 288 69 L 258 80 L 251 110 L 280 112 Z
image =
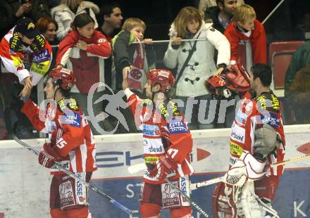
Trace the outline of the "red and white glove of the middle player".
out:
M 178 164 L 170 155 L 162 155 L 156 161 L 156 165 L 149 172 L 149 177 L 156 177 L 159 180 L 165 179 L 169 172 L 178 169 Z

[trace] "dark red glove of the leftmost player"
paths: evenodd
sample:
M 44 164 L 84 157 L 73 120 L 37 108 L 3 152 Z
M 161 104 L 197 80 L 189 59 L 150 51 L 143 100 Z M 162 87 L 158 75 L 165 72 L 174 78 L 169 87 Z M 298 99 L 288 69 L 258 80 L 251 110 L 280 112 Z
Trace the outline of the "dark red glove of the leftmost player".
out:
M 44 143 L 43 149 L 39 153 L 39 164 L 46 168 L 51 168 L 54 162 L 61 160 L 61 155 L 58 155 L 54 148 L 51 147 L 51 143 Z

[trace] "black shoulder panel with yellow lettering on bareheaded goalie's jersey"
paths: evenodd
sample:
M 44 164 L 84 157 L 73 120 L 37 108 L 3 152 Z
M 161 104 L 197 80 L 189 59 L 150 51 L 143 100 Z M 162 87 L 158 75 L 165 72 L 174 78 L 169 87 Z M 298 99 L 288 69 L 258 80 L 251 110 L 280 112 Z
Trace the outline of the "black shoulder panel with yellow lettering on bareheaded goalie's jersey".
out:
M 259 108 L 271 112 L 280 112 L 280 101 L 272 92 L 264 92 L 254 98 Z

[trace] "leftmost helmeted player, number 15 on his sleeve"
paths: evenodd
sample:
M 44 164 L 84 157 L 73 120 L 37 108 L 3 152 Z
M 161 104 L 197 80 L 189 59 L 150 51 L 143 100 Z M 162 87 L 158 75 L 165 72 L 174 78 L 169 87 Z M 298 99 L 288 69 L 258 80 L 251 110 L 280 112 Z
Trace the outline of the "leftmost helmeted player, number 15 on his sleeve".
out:
M 83 115 L 82 108 L 69 93 L 75 84 L 73 72 L 66 68 L 51 70 L 46 77 L 45 93 L 49 103 L 46 111 L 23 95 L 25 104 L 22 112 L 39 132 L 49 133 L 51 142 L 44 143 L 39 153 L 39 164 L 50 168 L 51 217 L 91 217 L 88 210 L 88 190 L 84 184 L 68 177 L 56 167 L 62 167 L 89 182 L 95 165 L 95 143 L 92 132 Z

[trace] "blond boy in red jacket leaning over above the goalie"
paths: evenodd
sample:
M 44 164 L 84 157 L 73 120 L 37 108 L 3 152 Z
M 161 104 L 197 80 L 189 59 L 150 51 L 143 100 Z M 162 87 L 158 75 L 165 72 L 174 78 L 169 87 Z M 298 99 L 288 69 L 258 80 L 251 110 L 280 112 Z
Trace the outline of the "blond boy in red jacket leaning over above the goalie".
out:
M 238 60 L 237 49 L 241 40 L 249 40 L 252 45 L 253 63 L 267 62 L 266 34 L 263 25 L 256 20 L 254 8 L 244 4 L 235 9 L 233 22 L 228 25 L 224 35 L 230 42 L 230 64 Z

